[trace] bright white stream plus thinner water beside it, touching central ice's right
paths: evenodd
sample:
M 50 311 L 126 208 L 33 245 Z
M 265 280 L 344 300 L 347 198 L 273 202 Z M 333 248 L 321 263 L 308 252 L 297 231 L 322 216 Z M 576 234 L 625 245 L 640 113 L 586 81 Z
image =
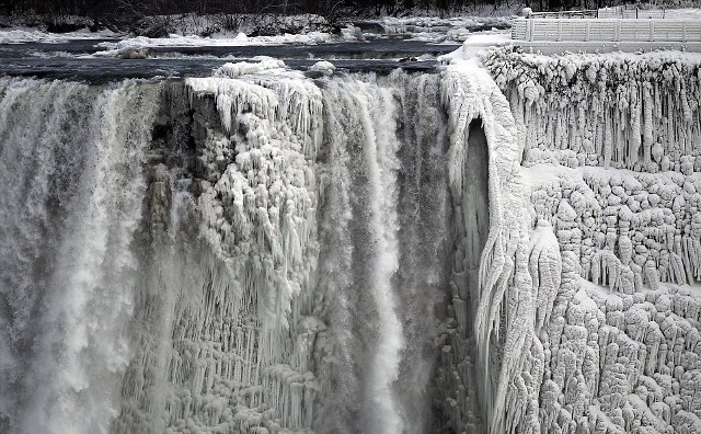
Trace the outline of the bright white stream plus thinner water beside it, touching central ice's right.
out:
M 358 92 L 359 90 L 359 92 Z M 340 215 L 338 238 L 346 238 L 353 248 L 353 262 L 344 270 L 349 275 L 338 276 L 346 285 L 333 288 L 332 307 L 342 318 L 347 318 L 358 309 L 368 306 L 377 321 L 367 318 L 367 331 L 376 342 L 368 343 L 375 354 L 367 354 L 360 367 L 358 380 L 365 386 L 350 385 L 365 396 L 359 410 L 364 415 L 360 429 L 369 432 L 400 432 L 401 419 L 397 408 L 392 381 L 397 378 L 399 353 L 402 347 L 402 326 L 397 316 L 397 300 L 392 292 L 391 278 L 398 267 L 397 204 L 393 193 L 397 187 L 395 136 L 397 110 L 391 89 L 368 84 L 356 80 L 330 83 L 324 89 L 326 101 L 325 124 L 330 142 L 330 173 L 332 180 L 347 176 L 338 185 L 332 182 L 332 197 L 329 208 L 344 206 Z M 349 116 L 340 116 L 340 110 L 347 110 Z M 386 189 L 383 191 L 383 189 Z M 349 197 L 349 198 L 348 198 Z M 330 217 L 336 217 L 336 210 Z M 341 214 L 341 213 L 338 213 Z M 345 216 L 344 216 L 345 215 Z M 347 217 L 346 217 L 347 216 Z M 350 235 L 347 219 L 355 220 Z M 334 220 L 330 226 L 335 225 Z M 334 230 L 333 228 L 330 228 Z M 341 258 L 341 261 L 345 261 Z M 322 260 L 323 261 L 323 260 Z M 359 273 L 358 273 L 359 271 Z M 334 278 L 335 279 L 335 278 Z M 354 295 L 347 293 L 355 293 Z M 347 298 L 357 298 L 348 301 Z M 350 305 L 350 306 L 348 306 Z M 359 313 L 359 312 L 358 312 Z M 343 327 L 343 323 L 340 324 Z M 353 324 L 348 324 L 353 327 Z M 332 331 L 335 327 L 331 326 Z M 344 334 L 344 330 L 340 330 Z M 341 352 L 346 359 L 353 359 L 356 349 L 341 339 Z M 369 349 L 368 349 L 369 350 Z M 368 351 L 366 350 L 366 351 Z M 336 369 L 349 369 L 340 365 Z M 343 374 L 342 374 L 343 375 Z M 365 389 L 365 390 L 364 390 Z

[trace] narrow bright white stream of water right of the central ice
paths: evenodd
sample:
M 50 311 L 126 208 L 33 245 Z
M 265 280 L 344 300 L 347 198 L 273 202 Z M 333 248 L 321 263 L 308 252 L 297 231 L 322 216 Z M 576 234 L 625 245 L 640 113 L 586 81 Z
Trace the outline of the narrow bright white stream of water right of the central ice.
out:
M 356 84 L 356 83 L 354 83 Z M 402 420 L 397 408 L 392 384 L 397 379 L 400 352 L 404 335 L 397 312 L 397 297 L 392 290 L 392 276 L 398 270 L 398 218 L 397 218 L 397 151 L 394 111 L 391 90 L 358 88 L 354 85 L 353 112 L 358 115 L 359 142 L 348 141 L 363 150 L 360 176 L 365 178 L 365 213 L 367 213 L 366 243 L 367 290 L 377 312 L 377 342 L 375 354 L 369 355 L 369 367 L 365 382 L 363 412 L 368 422 L 368 432 L 402 432 Z M 379 92 L 378 92 L 379 90 Z M 359 146 L 358 146 L 359 145 Z M 358 160 L 356 160 L 357 162 Z M 361 292 L 364 289 L 360 289 Z

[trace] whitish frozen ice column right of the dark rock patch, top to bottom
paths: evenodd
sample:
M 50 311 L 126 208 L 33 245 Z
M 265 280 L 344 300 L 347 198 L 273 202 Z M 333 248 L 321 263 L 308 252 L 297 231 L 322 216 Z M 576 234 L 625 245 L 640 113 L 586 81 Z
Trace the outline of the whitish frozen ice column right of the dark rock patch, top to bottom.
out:
M 239 77 L 249 70 L 235 72 Z M 232 75 L 231 68 L 226 75 Z M 189 79 L 187 85 L 194 106 L 202 104 L 195 100 L 215 99 L 221 125 L 219 129 L 210 118 L 203 119 L 198 208 L 200 231 L 223 270 L 218 271 L 222 275 L 212 273 L 206 302 L 185 313 L 204 315 L 203 329 L 221 332 L 183 342 L 192 342 L 183 355 L 199 354 L 189 363 L 203 365 L 193 398 L 223 406 L 220 423 L 233 408 L 231 421 L 241 430 L 310 429 L 312 407 L 304 403 L 313 402 L 318 386 L 309 370 L 309 340 L 323 330 L 313 321 L 315 326 L 306 326 L 318 250 L 314 158 L 321 94 L 296 77 L 215 77 Z M 239 318 L 229 333 L 233 324 L 222 322 L 226 318 Z M 205 346 L 187 351 L 193 344 Z M 216 403 L 216 397 L 223 402 Z M 186 414 L 187 408 L 183 410 Z

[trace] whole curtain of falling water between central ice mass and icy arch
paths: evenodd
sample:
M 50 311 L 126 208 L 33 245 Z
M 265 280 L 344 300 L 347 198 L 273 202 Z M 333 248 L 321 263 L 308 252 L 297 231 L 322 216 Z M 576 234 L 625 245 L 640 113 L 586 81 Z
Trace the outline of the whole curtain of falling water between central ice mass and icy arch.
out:
M 430 110 L 438 112 L 430 105 L 437 104 L 437 79 L 395 73 L 368 82 L 336 80 L 323 93 L 330 185 L 321 270 L 330 275 L 323 284 L 331 297 L 330 332 L 338 343 L 331 369 L 340 388 L 353 392 L 329 403 L 331 412 L 341 408 L 346 414 L 334 415 L 322 431 L 414 432 L 427 419 L 432 365 L 424 351 L 436 327 L 430 318 L 446 216 L 438 162 L 443 124 L 430 116 Z M 413 124 L 422 108 L 426 124 Z M 348 248 L 337 250 L 341 243 Z M 414 270 L 398 273 L 402 265 Z M 406 397 L 421 397 L 423 410 Z

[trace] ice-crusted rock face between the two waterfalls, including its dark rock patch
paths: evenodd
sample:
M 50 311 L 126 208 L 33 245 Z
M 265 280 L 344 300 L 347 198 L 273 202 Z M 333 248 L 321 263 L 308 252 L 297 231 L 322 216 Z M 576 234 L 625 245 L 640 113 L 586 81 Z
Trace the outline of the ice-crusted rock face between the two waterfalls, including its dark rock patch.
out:
M 283 72 L 222 67 L 162 114 L 161 130 L 187 125 L 163 146 L 192 156 L 174 162 L 188 172 L 151 179 L 139 353 L 115 433 L 311 431 L 321 93 Z

